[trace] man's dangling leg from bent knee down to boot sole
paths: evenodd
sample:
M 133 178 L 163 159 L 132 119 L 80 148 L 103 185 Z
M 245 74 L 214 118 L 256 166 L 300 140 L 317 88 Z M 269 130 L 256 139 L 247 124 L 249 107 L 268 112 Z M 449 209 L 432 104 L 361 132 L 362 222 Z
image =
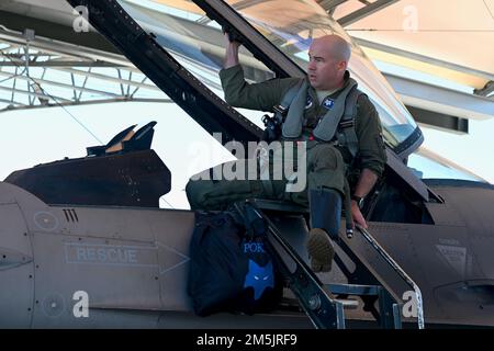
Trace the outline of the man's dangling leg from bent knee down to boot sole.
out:
M 332 145 L 318 144 L 307 151 L 307 196 L 311 231 L 307 250 L 312 269 L 330 271 L 338 238 L 345 185 L 345 162 Z

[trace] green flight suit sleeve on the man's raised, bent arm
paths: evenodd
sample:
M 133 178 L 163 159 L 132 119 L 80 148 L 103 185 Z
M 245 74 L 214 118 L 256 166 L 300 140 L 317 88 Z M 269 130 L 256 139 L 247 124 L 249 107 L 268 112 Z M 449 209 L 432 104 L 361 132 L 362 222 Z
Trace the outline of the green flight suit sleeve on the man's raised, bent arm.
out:
M 225 101 L 235 107 L 273 112 L 280 103 L 287 83 L 281 79 L 271 79 L 259 83 L 248 83 L 244 79 L 244 69 L 236 65 L 220 71 Z

